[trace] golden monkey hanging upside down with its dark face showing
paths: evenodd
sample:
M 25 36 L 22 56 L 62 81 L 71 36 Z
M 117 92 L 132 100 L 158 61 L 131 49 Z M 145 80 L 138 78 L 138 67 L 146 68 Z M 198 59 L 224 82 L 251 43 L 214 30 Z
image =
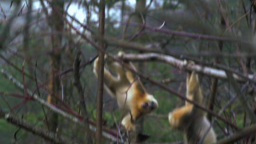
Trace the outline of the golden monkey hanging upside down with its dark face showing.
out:
M 119 52 L 118 56 L 122 56 L 124 52 Z M 118 105 L 125 112 L 122 119 L 122 125 L 131 130 L 135 128 L 135 122 L 150 113 L 158 107 L 158 103 L 153 95 L 146 92 L 139 78 L 131 71 L 124 68 L 118 62 L 105 57 L 106 64 L 104 66 L 104 87 L 108 93 L 117 99 Z M 126 63 L 136 71 L 132 63 Z M 113 75 L 114 72 L 116 75 Z M 94 61 L 93 72 L 98 77 L 98 58 Z

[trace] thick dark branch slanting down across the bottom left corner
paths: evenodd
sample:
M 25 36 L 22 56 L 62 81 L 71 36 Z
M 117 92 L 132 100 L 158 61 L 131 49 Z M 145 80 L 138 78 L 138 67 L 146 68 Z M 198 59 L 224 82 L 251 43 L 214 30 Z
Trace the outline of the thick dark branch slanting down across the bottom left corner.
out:
M 78 144 L 62 135 L 53 133 L 46 129 L 42 129 L 42 127 L 34 126 L 21 118 L 15 117 L 13 114 L 4 112 L 2 109 L 0 109 L 0 118 L 4 118 L 11 124 L 24 128 L 33 134 L 39 135 L 49 141 L 52 141 L 54 144 Z

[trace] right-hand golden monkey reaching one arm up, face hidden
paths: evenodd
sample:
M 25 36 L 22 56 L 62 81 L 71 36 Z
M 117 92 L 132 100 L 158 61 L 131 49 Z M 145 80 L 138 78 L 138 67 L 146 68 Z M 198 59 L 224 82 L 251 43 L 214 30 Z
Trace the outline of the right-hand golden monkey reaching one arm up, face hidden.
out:
M 198 75 L 194 71 L 188 73 L 186 82 L 186 97 L 201 104 L 203 93 Z M 210 127 L 210 122 L 205 112 L 187 101 L 185 106 L 175 108 L 169 113 L 169 122 L 172 127 L 183 131 L 185 144 L 197 144 Z M 213 144 L 216 142 L 216 135 L 211 127 L 202 144 Z

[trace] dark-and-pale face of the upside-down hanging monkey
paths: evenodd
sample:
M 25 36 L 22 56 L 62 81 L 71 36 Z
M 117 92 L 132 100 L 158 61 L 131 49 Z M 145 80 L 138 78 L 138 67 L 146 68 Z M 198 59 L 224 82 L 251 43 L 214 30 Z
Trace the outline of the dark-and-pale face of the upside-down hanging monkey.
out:
M 146 94 L 145 98 L 139 103 L 139 107 L 142 113 L 149 113 L 158 107 L 158 103 L 152 95 Z

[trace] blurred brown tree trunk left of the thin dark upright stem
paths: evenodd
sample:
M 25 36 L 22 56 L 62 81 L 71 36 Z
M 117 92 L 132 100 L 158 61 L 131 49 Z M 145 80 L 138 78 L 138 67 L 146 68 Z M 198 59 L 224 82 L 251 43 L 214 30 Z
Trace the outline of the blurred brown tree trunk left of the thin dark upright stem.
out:
M 63 21 L 63 8 L 64 2 L 63 0 L 53 0 L 52 1 L 52 14 L 50 16 L 49 25 L 51 27 L 52 32 L 63 31 L 64 21 Z M 49 84 L 48 88 L 51 91 L 51 94 L 48 94 L 47 101 L 52 104 L 57 104 L 57 99 L 54 96 L 59 95 L 60 90 L 60 80 L 59 77 L 55 77 L 55 75 L 60 72 L 61 65 L 61 53 L 58 49 L 61 46 L 62 35 L 51 35 L 52 40 L 52 53 L 50 55 L 50 76 L 49 76 Z M 58 126 L 58 115 L 53 112 L 49 112 L 48 122 L 50 131 L 56 132 Z

